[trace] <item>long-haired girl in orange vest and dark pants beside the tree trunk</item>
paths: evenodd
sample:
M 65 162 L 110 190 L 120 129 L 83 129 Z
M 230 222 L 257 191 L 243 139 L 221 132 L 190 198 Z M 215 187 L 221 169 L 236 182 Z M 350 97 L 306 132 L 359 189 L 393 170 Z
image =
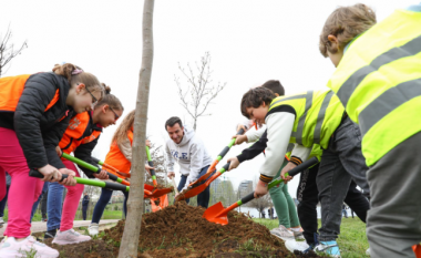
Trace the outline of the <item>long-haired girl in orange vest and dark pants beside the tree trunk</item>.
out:
M 133 123 L 134 123 L 134 111 L 130 112 L 123 120 L 123 122 L 119 125 L 119 128 L 115 131 L 112 144 L 110 147 L 109 154 L 106 154 L 105 162 L 107 165 L 113 166 L 119 172 L 130 174 L 130 169 L 132 166 L 132 144 L 133 144 Z M 146 141 L 146 145 L 150 146 L 150 142 Z M 145 169 L 150 171 L 153 167 L 145 165 Z M 127 179 L 126 177 L 117 174 L 113 171 L 109 171 L 110 173 L 119 176 L 122 179 Z M 97 200 L 95 208 L 92 215 L 92 223 L 89 227 L 89 234 L 91 236 L 95 236 L 99 233 L 99 223 L 104 213 L 105 206 L 109 204 L 111 199 L 111 195 L 113 190 L 102 188 L 101 196 Z M 126 203 L 129 193 L 123 192 L 124 198 L 124 214 L 126 214 Z

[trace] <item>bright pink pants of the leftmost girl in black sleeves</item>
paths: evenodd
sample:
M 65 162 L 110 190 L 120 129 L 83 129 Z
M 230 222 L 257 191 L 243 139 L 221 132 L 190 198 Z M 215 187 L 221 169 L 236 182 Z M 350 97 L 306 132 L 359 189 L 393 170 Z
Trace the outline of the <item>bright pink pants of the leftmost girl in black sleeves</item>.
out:
M 41 194 L 44 183 L 30 177 L 29 171 L 16 132 L 0 127 L 0 198 L 6 195 L 6 172 L 12 178 L 8 197 L 9 219 L 4 236 L 23 238 L 31 234 L 29 219 L 32 205 Z

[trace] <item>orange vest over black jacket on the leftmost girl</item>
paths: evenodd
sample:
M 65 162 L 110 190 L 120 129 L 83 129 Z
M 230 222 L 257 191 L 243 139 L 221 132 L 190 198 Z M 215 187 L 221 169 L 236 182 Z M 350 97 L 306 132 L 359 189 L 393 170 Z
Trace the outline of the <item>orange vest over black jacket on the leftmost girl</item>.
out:
M 11 111 L 17 110 L 19 99 L 22 95 L 24 84 L 32 74 L 23 74 L 18 76 L 2 78 L 0 79 L 0 111 Z M 50 104 L 47 106 L 44 112 L 51 109 L 58 101 L 60 94 L 59 89 L 55 91 L 54 97 L 51 100 Z

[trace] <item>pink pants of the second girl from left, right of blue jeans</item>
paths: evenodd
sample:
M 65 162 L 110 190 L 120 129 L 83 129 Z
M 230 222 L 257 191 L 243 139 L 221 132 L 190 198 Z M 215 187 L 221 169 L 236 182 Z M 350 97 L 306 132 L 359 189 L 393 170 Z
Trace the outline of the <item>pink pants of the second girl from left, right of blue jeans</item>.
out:
M 63 164 L 69 169 L 74 171 L 76 173 L 76 176 L 80 177 L 79 172 L 72 162 L 63 161 Z M 76 215 L 84 185 L 76 184 L 75 186 L 65 186 L 65 188 L 68 188 L 68 194 L 65 195 L 63 204 L 60 231 L 65 231 L 73 228 L 74 216 Z

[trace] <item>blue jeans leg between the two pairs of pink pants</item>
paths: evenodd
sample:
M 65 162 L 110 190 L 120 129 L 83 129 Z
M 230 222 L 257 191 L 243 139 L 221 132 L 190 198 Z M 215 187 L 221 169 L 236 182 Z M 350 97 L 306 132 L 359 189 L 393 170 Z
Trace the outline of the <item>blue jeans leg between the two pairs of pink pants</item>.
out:
M 47 199 L 47 214 L 49 217 L 49 220 L 47 220 L 48 231 L 60 228 L 61 210 L 63 207 L 63 192 L 64 186 L 57 182 L 50 183 Z

